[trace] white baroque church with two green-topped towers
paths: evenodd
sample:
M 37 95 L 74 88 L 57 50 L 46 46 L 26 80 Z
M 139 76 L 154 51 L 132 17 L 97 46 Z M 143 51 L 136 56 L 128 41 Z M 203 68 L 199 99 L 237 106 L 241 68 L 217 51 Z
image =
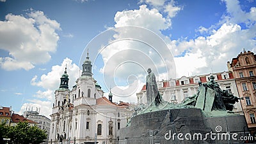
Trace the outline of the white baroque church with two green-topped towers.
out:
M 55 90 L 49 143 L 118 143 L 119 133 L 132 115 L 129 103 L 113 103 L 93 78 L 88 53 L 82 75 L 68 89 L 67 67 Z

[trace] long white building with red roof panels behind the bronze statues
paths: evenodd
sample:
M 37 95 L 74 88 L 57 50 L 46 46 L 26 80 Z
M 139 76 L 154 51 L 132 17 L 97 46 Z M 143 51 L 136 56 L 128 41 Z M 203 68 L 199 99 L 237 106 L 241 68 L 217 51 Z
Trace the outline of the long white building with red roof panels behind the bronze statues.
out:
M 234 96 L 239 96 L 236 81 L 232 72 L 224 71 L 222 73 L 210 73 L 200 76 L 182 76 L 177 79 L 157 81 L 157 88 L 163 96 L 164 101 L 169 103 L 182 103 L 186 97 L 197 93 L 198 82 L 208 82 L 210 76 L 214 76 L 214 81 L 220 85 L 223 90 L 228 90 Z M 140 92 L 136 94 L 138 103 L 147 104 L 146 86 L 144 85 Z M 242 113 L 241 103 L 234 104 L 234 112 Z

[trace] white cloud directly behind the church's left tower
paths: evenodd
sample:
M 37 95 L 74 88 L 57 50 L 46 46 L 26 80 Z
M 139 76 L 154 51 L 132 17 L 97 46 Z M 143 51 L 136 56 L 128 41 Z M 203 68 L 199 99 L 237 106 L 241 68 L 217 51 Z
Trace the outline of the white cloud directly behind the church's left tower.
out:
M 28 106 L 31 108 L 40 108 L 40 114 L 49 117 L 52 112 L 52 103 L 54 101 L 54 90 L 58 89 L 60 85 L 61 75 L 64 73 L 67 64 L 67 74 L 69 78 L 68 85 L 72 87 L 75 85 L 76 80 L 79 74 L 79 67 L 72 63 L 71 59 L 65 58 L 60 65 L 52 66 L 52 69 L 46 75 L 40 76 L 40 80 L 38 80 L 38 76 L 34 76 L 31 79 L 31 85 L 36 85 L 38 87 L 42 87 L 45 90 L 38 90 L 33 97 L 37 97 L 38 99 L 27 99 L 30 103 L 22 104 L 20 108 L 20 114 L 26 110 Z

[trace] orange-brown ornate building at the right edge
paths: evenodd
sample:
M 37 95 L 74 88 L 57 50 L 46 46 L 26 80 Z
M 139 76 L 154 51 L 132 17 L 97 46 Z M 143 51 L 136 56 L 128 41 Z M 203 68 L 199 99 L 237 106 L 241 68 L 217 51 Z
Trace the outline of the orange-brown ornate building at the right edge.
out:
M 236 85 L 241 101 L 244 117 L 249 129 L 256 131 L 256 55 L 245 50 L 228 62 L 228 69 L 234 73 Z

